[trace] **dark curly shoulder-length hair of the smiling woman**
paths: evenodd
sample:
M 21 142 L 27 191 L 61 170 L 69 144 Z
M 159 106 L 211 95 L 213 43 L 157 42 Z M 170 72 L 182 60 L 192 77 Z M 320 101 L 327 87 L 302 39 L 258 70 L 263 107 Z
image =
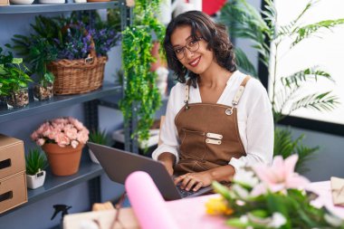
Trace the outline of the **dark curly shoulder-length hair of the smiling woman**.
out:
M 178 26 L 189 25 L 191 36 L 197 38 L 196 33 L 200 33 L 205 40 L 208 50 L 212 50 L 216 62 L 229 72 L 236 70 L 233 44 L 226 33 L 225 25 L 216 24 L 205 13 L 200 11 L 188 11 L 177 15 L 168 25 L 164 40 L 164 48 L 167 56 L 168 67 L 175 72 L 177 81 L 186 82 L 186 75 L 191 79 L 192 85 L 196 88 L 198 74 L 189 72 L 181 62 L 178 61 L 176 53 L 171 43 L 171 35 Z M 199 35 L 198 35 L 199 36 Z

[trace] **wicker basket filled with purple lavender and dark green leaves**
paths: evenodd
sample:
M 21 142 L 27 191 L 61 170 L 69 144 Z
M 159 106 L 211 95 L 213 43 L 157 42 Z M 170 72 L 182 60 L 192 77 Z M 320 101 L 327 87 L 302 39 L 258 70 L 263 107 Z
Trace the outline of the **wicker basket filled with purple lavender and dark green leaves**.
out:
M 100 88 L 106 52 L 119 41 L 114 28 L 104 24 L 93 27 L 74 15 L 54 18 L 40 15 L 31 27 L 34 33 L 28 36 L 14 35 L 13 49 L 33 63 L 40 81 L 45 84 L 53 81 L 54 94 L 77 94 Z

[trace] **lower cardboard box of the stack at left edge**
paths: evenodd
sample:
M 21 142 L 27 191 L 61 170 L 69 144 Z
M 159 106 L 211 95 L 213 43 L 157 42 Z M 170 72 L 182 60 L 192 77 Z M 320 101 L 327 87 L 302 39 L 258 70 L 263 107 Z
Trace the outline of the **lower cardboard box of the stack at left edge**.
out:
M 27 202 L 25 172 L 0 179 L 0 214 Z

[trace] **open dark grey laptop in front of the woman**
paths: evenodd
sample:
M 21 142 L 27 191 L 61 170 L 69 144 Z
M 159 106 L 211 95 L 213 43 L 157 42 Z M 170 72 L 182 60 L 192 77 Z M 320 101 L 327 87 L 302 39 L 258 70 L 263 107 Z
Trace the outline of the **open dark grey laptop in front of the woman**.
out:
M 212 186 L 206 186 L 196 192 L 186 191 L 175 185 L 173 178 L 169 176 L 161 162 L 119 148 L 110 148 L 92 142 L 88 142 L 87 145 L 99 160 L 100 166 L 104 168 L 110 180 L 119 184 L 124 184 L 132 172 L 144 171 L 152 177 L 165 200 L 200 196 L 213 189 Z

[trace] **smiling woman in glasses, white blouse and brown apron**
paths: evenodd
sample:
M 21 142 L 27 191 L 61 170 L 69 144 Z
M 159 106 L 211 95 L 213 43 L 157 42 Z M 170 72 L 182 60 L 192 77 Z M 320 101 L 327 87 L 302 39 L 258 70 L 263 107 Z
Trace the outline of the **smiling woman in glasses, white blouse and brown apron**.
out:
M 175 183 L 196 191 L 229 182 L 239 167 L 271 163 L 270 100 L 260 81 L 237 71 L 225 26 L 202 12 L 179 14 L 167 26 L 164 48 L 179 83 L 152 157 L 179 176 Z

